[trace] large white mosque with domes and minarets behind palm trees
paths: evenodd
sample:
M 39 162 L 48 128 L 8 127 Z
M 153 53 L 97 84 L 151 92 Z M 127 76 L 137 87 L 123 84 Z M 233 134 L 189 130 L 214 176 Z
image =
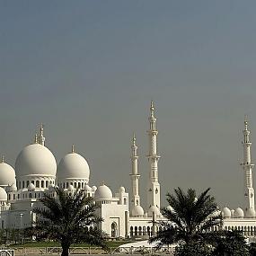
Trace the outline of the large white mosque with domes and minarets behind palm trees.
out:
M 36 221 L 33 207 L 40 206 L 39 199 L 49 194 L 56 197 L 55 186 L 68 192 L 83 190 L 86 196 L 93 197 L 99 204 L 98 215 L 104 221 L 100 228 L 110 237 L 148 237 L 158 228 L 152 220 L 163 220 L 160 213 L 160 183 L 158 181 L 156 118 L 154 103 L 151 102 L 148 118 L 149 137 L 148 181 L 146 188 L 146 207 L 141 206 L 139 196 L 138 154 L 135 135 L 131 143 L 131 194 L 120 187 L 116 193 L 102 183 L 98 187 L 90 186 L 90 168 L 81 154 L 66 154 L 57 164 L 55 156 L 45 146 L 44 128 L 40 127 L 39 136 L 34 143 L 25 146 L 18 154 L 15 168 L 4 162 L 0 163 L 0 228 L 21 229 L 31 226 Z M 224 207 L 224 228 L 243 230 L 246 236 L 256 236 L 256 214 L 254 207 L 254 190 L 252 186 L 251 141 L 248 121 L 244 120 L 243 129 L 243 163 L 244 202 L 245 207 L 229 209 Z M 130 197 L 130 199 L 129 199 Z M 169 206 L 170 207 L 170 206 Z

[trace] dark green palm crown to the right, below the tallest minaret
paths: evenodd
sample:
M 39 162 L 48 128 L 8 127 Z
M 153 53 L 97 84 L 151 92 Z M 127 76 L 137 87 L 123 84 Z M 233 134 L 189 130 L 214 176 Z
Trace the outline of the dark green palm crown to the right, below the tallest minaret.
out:
M 196 191 L 189 189 L 184 193 L 181 188 L 174 194 L 166 195 L 171 207 L 163 207 L 161 212 L 166 220 L 156 222 L 162 227 L 150 242 L 157 242 L 158 247 L 166 244 L 211 244 L 214 226 L 222 225 L 222 216 L 217 211 L 216 201 L 208 195 L 207 189 L 199 197 Z

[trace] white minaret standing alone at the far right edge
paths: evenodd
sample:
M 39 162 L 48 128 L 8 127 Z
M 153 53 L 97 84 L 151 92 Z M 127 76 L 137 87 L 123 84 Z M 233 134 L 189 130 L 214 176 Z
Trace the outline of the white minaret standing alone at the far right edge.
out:
M 243 171 L 244 171 L 244 197 L 245 207 L 254 209 L 254 190 L 252 187 L 252 169 L 254 164 L 251 163 L 251 141 L 250 130 L 248 129 L 248 120 L 244 119 L 243 129 Z

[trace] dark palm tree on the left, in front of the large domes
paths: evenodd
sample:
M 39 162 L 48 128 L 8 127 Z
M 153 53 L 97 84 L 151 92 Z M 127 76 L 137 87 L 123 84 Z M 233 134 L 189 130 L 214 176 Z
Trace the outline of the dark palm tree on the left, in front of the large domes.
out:
M 106 249 L 106 235 L 94 227 L 102 221 L 96 216 L 96 205 L 92 198 L 85 197 L 82 191 L 74 194 L 56 188 L 57 198 L 45 194 L 40 199 L 43 207 L 33 212 L 37 221 L 34 234 L 40 239 L 57 241 L 62 247 L 62 256 L 68 255 L 71 244 L 90 243 Z

